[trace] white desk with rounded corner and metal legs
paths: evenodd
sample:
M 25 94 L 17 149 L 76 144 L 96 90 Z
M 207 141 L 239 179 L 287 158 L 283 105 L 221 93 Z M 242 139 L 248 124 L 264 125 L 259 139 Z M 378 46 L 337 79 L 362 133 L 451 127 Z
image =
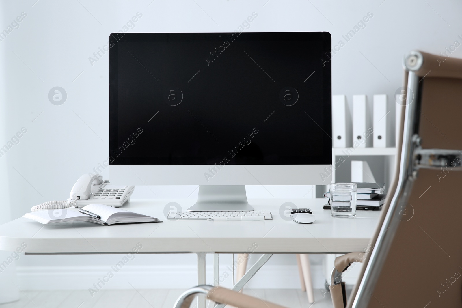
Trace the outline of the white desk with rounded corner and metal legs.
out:
M 158 217 L 162 223 L 101 226 L 87 222 L 43 225 L 21 217 L 0 226 L 0 250 L 13 251 L 25 243 L 26 254 L 120 254 L 138 243 L 143 254 L 198 254 L 198 283 L 205 283 L 205 254 L 264 254 L 236 284 L 236 290 L 265 264 L 272 254 L 344 254 L 364 250 L 376 228 L 380 211 L 357 211 L 355 218 L 333 218 L 323 210 L 326 199 L 249 199 L 257 211 L 271 211 L 263 222 L 169 221 L 164 206 L 177 202 L 183 210 L 190 199 L 132 199 L 123 208 Z M 280 217 L 280 205 L 293 202 L 316 215 L 312 224 L 298 224 Z M 138 245 L 140 245 L 138 244 Z M 215 255 L 214 261 L 218 261 Z M 215 262 L 214 262 L 215 263 Z M 214 264 L 218 277 L 218 262 Z

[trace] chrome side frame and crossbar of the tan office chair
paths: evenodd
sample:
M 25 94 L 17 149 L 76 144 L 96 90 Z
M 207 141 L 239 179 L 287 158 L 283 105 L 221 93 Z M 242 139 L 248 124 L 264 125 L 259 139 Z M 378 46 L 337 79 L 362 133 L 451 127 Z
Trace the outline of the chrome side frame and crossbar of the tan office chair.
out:
M 409 193 L 420 168 L 450 167 L 461 168 L 462 152 L 446 149 L 422 149 L 421 138 L 416 131 L 418 121 L 419 76 L 416 75 L 423 65 L 423 55 L 419 51 L 411 51 L 403 60 L 407 72 L 407 96 L 404 112 L 404 127 L 402 134 L 401 161 L 398 183 L 391 200 L 389 210 L 380 229 L 380 235 L 375 242 L 367 262 L 363 277 L 359 282 L 358 292 L 351 303 L 352 308 L 366 308 L 371 300 L 372 292 L 377 284 L 379 273 L 387 257 L 395 232 L 401 222 L 400 211 L 407 206 Z M 457 162 L 456 162 L 457 161 Z M 454 163 L 454 165 L 450 165 Z

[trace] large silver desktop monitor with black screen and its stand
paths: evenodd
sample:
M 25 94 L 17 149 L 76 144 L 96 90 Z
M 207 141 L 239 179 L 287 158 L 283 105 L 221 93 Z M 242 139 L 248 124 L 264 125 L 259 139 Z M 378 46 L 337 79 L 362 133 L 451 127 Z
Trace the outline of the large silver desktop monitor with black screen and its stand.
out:
M 252 211 L 244 185 L 330 182 L 328 32 L 113 33 L 109 46 L 111 183 L 200 185 L 190 211 Z

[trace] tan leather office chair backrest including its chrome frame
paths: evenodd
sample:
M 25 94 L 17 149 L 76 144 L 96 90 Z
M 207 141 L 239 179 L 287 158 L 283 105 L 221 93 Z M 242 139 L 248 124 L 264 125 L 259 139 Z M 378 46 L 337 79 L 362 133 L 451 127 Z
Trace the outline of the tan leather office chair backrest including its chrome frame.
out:
M 395 180 L 347 307 L 462 307 L 462 59 L 403 66 Z

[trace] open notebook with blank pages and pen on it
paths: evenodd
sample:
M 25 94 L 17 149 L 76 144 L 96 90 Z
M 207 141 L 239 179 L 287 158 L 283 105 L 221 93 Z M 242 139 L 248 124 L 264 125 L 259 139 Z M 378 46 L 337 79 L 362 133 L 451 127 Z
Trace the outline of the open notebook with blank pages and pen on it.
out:
M 99 223 L 109 225 L 114 223 L 160 223 L 158 218 L 141 215 L 120 208 L 103 205 L 103 204 L 89 204 L 85 205 L 82 210 L 89 211 L 93 214 L 99 215 L 101 219 L 82 214 L 78 211 L 70 209 L 59 210 L 43 210 L 32 213 L 27 213 L 23 217 L 33 219 L 39 223 L 60 223 L 66 221 L 90 221 L 92 223 Z

